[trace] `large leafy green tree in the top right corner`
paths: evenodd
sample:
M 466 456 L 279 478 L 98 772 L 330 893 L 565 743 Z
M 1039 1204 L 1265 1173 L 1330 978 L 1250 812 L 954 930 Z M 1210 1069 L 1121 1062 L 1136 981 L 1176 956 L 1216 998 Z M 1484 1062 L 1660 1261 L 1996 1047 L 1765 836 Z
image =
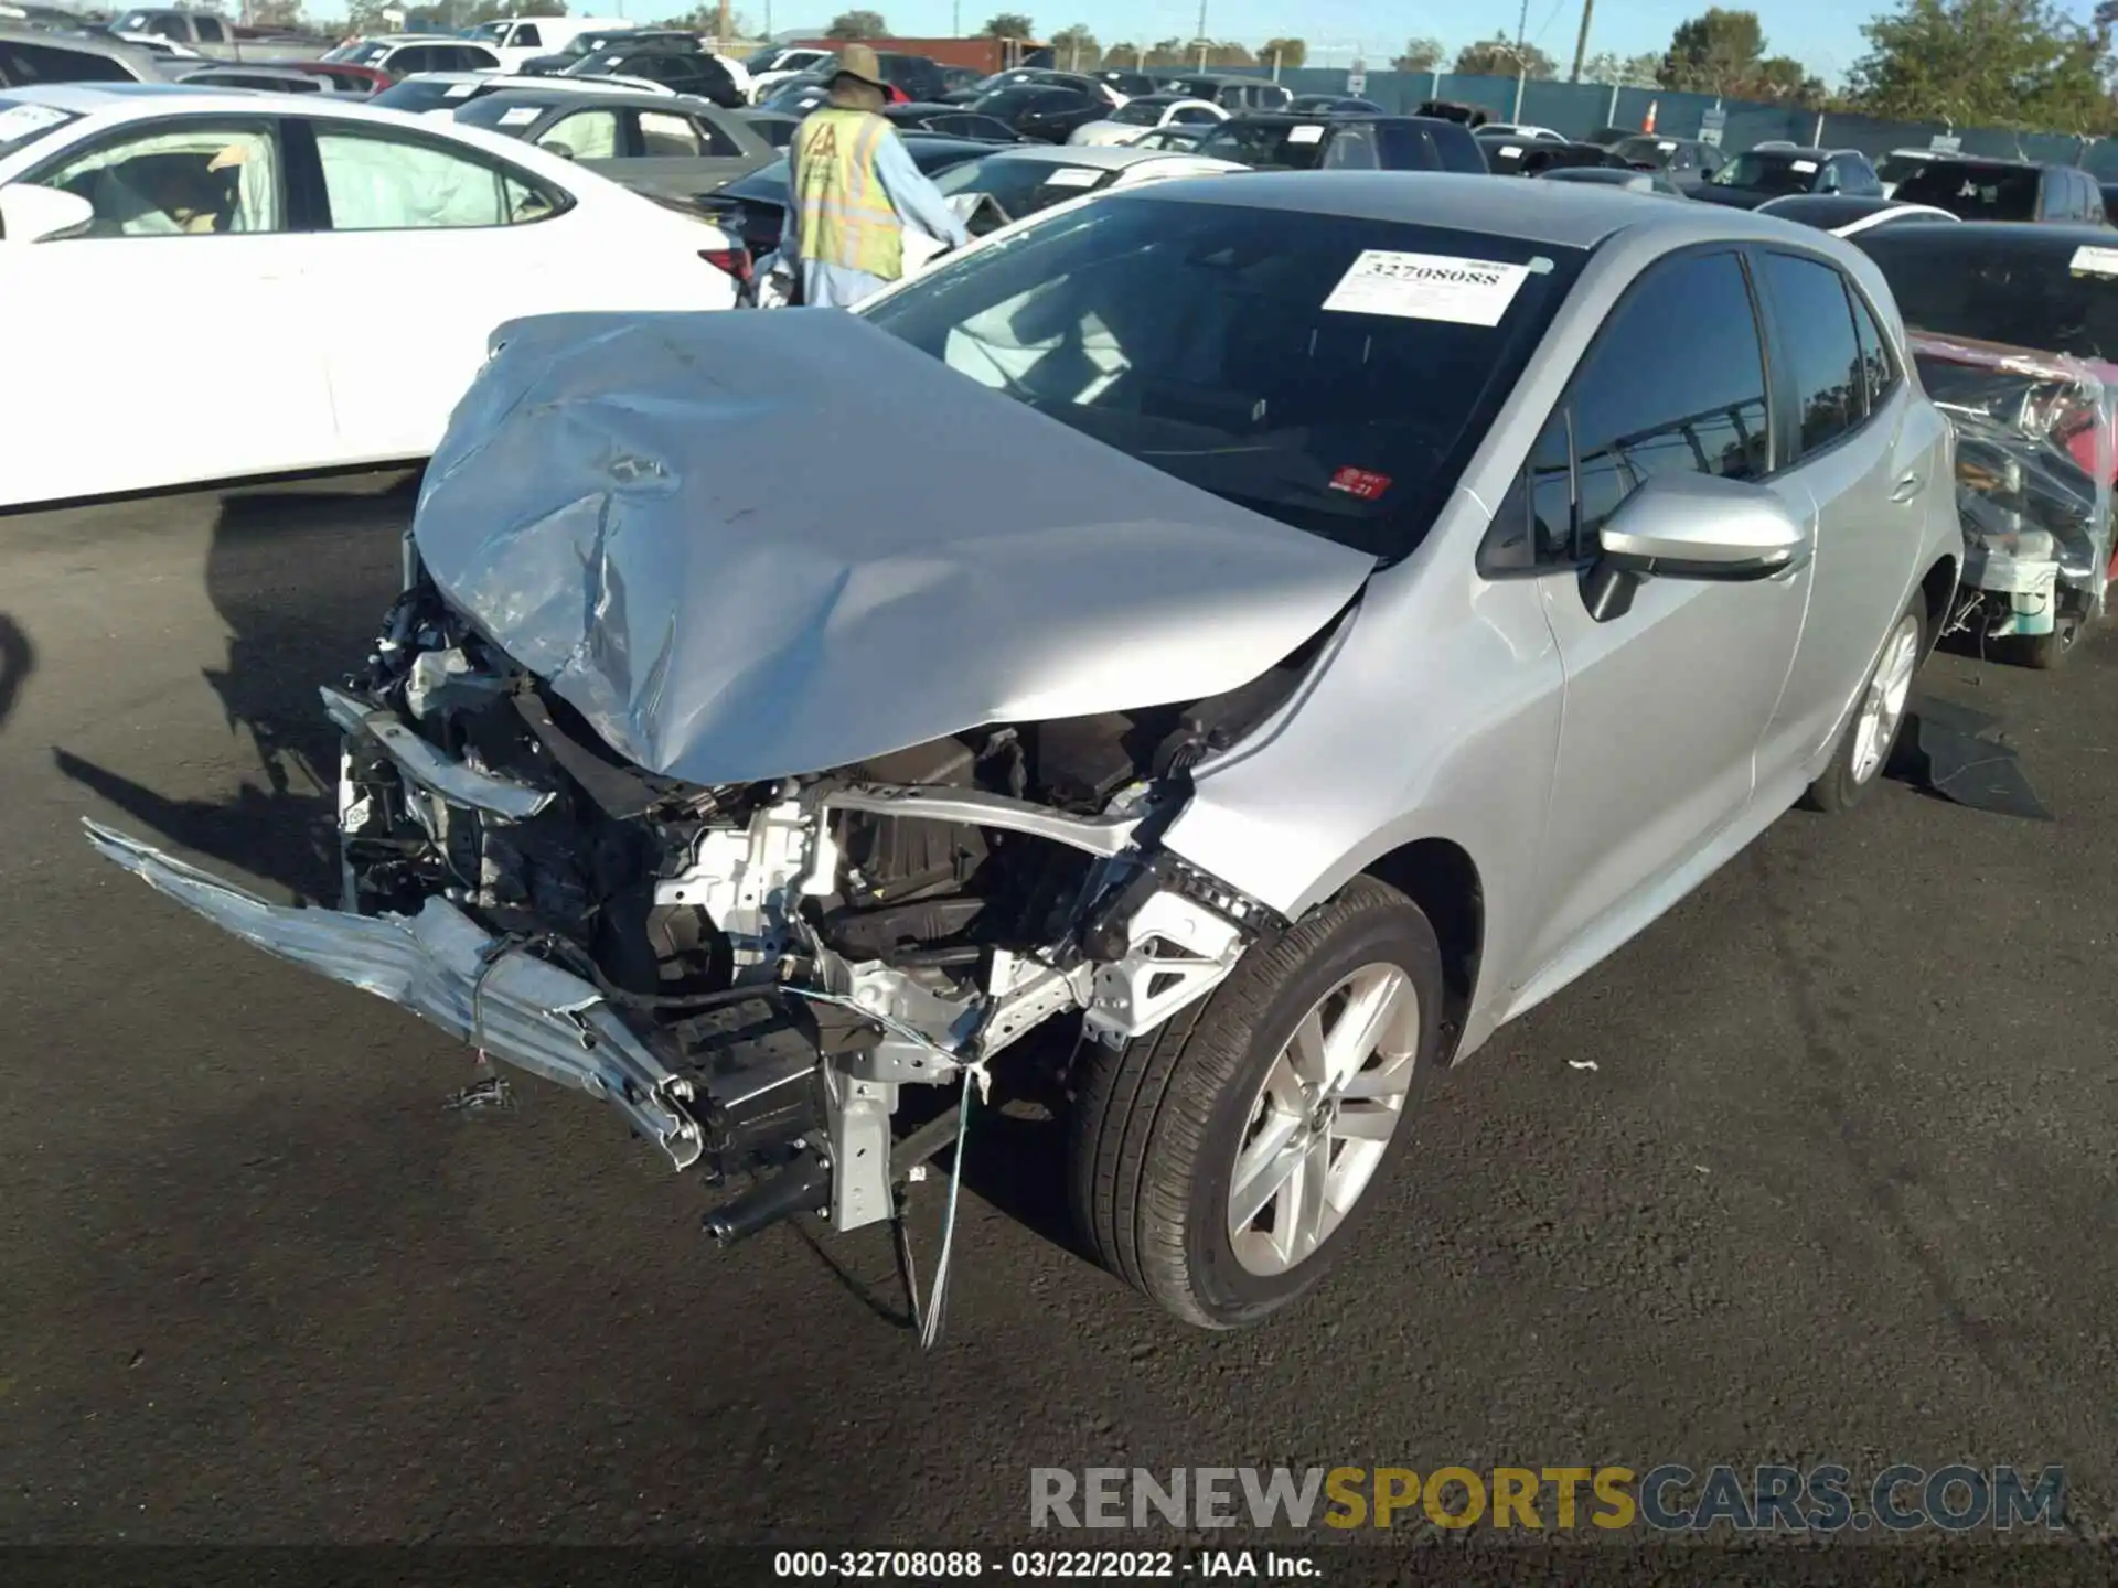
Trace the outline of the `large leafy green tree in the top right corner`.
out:
M 1906 0 L 1862 28 L 1847 97 L 1870 116 L 2105 131 L 2103 13 L 2084 28 L 2046 0 Z

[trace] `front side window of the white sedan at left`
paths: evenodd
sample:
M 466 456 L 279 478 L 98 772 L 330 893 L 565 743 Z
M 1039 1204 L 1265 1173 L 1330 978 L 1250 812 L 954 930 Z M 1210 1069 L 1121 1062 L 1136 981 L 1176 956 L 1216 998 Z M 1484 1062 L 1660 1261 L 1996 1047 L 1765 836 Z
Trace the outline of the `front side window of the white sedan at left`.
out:
M 280 231 L 280 144 L 263 127 L 157 129 L 36 178 L 95 207 L 89 237 Z

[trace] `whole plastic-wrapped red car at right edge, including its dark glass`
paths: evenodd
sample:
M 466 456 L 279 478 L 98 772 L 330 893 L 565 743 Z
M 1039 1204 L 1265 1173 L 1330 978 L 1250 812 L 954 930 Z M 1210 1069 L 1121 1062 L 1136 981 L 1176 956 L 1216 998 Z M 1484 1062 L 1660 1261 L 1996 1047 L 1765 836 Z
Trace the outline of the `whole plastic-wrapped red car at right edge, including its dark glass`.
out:
M 2059 667 L 2118 578 L 2118 237 L 1938 220 L 1853 241 L 1889 282 L 1961 438 L 1961 622 L 2002 658 Z

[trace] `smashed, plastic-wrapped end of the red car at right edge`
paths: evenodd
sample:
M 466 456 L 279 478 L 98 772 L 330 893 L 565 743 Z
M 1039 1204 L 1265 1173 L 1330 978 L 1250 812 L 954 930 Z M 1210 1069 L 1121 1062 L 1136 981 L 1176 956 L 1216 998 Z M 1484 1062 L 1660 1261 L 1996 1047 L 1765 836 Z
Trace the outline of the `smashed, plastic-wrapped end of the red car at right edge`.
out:
M 2103 612 L 2118 392 L 2063 354 L 1929 332 L 1908 345 L 1957 432 L 1963 578 L 1951 627 L 2048 665 Z

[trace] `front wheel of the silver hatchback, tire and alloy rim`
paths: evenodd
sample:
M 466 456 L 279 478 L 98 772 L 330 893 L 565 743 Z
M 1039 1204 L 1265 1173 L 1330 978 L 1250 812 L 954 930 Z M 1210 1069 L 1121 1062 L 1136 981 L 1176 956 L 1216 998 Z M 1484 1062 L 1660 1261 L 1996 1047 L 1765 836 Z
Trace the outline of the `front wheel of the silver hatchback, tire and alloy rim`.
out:
M 1383 1035 L 1370 1057 L 1345 1065 L 1360 1042 L 1332 1050 L 1330 1037 L 1356 999 L 1368 999 L 1360 1014 Z M 1434 1071 L 1440 1010 L 1428 917 L 1398 889 L 1356 877 L 1254 944 L 1220 987 L 1159 1031 L 1118 1050 L 1087 1044 L 1070 1116 L 1070 1190 L 1095 1258 L 1209 1330 L 1256 1323 L 1309 1294 L 1404 1158 L 1404 1116 L 1415 1082 Z M 1317 1027 L 1307 1025 L 1311 1014 Z M 1296 1044 L 1298 1029 L 1324 1042 Z M 1339 1057 L 1343 1073 L 1326 1076 L 1320 1097 L 1303 1071 L 1324 1069 L 1322 1052 Z M 1336 1093 L 1347 1078 L 1351 1090 Z M 1300 1103 L 1284 1107 L 1290 1082 L 1305 1088 L 1307 1118 L 1296 1118 Z M 1264 1137 L 1281 1131 L 1292 1135 L 1273 1152 Z M 1254 1196 L 1288 1162 L 1298 1167 L 1281 1194 L 1237 1230 L 1237 1171 Z M 1320 1165 L 1328 1165 L 1322 1179 Z M 1305 1198 L 1315 1186 L 1324 1192 Z M 1296 1205 L 1303 1215 L 1288 1217 Z M 1284 1230 L 1256 1228 L 1281 1220 Z

